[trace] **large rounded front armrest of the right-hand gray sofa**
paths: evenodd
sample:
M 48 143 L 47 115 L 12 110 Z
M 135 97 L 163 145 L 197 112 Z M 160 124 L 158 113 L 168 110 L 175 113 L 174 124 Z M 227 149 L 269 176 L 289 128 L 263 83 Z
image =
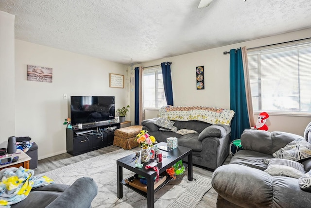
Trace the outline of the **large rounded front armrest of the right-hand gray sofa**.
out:
M 244 208 L 267 207 L 273 195 L 271 175 L 237 164 L 218 167 L 212 174 L 212 186 L 225 200 Z

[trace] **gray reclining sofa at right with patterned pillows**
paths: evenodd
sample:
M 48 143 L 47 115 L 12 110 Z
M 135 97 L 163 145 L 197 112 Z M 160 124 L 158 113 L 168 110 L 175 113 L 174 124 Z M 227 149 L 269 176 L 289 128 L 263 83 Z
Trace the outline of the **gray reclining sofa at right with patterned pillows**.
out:
M 293 163 L 292 160 L 284 159 L 304 154 L 297 154 L 300 148 L 294 148 L 294 145 L 285 150 L 294 140 L 300 140 L 308 146 L 311 132 L 305 132 L 303 138 L 285 132 L 244 130 L 241 136 L 243 150 L 232 157 L 230 164 L 217 168 L 212 175 L 212 186 L 218 192 L 217 208 L 310 207 L 311 192 L 301 189 L 300 175 L 309 174 L 311 158 L 298 158 L 295 162 L 295 166 L 299 166 L 297 170 L 287 166 Z M 275 164 L 276 161 L 285 163 Z M 302 173 L 298 171 L 301 164 Z M 310 177 L 308 181 L 310 186 Z

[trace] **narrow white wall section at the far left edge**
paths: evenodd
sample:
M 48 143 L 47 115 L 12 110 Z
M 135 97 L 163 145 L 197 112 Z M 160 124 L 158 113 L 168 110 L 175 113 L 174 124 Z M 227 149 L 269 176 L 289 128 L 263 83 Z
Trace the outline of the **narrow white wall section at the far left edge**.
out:
M 0 11 L 0 147 L 15 133 L 14 19 Z

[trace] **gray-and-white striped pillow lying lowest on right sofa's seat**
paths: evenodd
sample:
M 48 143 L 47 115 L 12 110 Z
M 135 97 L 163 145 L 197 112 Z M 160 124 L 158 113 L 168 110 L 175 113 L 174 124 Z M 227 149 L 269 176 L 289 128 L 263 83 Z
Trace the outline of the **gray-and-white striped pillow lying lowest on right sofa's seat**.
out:
M 264 172 L 271 176 L 287 176 L 292 178 L 299 178 L 305 174 L 304 166 L 296 161 L 287 159 L 266 159 L 265 163 L 269 163 Z

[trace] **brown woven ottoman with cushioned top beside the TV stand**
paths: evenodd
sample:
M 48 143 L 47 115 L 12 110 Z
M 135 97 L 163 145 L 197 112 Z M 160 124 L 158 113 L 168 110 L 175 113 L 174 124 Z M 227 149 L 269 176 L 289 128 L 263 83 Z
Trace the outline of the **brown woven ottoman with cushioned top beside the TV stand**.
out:
M 122 147 L 125 150 L 130 150 L 138 147 L 138 142 L 135 141 L 136 136 L 141 131 L 142 126 L 129 126 L 115 131 L 113 145 Z

